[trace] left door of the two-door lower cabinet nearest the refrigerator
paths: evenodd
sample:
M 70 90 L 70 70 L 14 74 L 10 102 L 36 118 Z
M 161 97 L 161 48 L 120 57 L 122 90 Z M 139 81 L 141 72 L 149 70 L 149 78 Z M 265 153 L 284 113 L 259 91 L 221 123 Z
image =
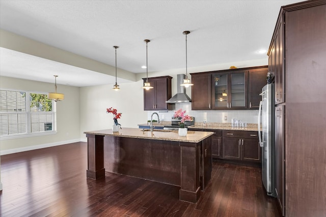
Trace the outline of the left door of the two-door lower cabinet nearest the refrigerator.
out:
M 223 158 L 232 160 L 241 160 L 240 139 L 223 138 Z

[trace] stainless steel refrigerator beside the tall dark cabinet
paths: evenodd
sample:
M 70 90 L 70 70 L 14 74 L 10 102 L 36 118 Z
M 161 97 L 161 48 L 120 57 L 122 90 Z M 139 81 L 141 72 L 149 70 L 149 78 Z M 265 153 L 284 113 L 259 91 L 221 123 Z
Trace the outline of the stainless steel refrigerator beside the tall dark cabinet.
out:
M 261 89 L 258 112 L 259 145 L 262 148 L 261 175 L 267 195 L 275 197 L 274 169 L 274 84 Z M 261 133 L 260 130 L 261 129 Z

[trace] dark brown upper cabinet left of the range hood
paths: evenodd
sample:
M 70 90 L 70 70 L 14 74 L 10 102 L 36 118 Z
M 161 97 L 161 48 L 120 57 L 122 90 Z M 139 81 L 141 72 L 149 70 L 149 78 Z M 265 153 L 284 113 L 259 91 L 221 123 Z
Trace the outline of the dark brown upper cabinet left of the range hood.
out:
M 166 103 L 172 96 L 171 76 L 149 77 L 152 89 L 144 90 L 144 110 L 145 111 L 165 111 L 171 110 L 172 104 Z M 146 82 L 146 78 L 143 78 Z

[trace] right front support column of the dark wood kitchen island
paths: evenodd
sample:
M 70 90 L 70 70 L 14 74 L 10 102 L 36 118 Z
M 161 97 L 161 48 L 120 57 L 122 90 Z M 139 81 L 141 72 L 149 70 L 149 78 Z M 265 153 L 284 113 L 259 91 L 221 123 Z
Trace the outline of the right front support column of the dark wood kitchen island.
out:
M 179 197 L 182 201 L 197 203 L 200 187 L 200 143 L 180 142 L 181 186 Z

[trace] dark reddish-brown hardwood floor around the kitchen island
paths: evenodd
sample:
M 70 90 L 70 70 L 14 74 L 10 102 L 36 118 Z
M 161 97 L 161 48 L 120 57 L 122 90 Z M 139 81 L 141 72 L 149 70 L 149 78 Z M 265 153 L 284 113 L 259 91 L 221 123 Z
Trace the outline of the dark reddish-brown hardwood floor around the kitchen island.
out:
M 178 186 L 86 169 L 86 143 L 1 156 L 0 216 L 279 216 L 260 168 L 213 161 L 197 204 L 179 201 Z

